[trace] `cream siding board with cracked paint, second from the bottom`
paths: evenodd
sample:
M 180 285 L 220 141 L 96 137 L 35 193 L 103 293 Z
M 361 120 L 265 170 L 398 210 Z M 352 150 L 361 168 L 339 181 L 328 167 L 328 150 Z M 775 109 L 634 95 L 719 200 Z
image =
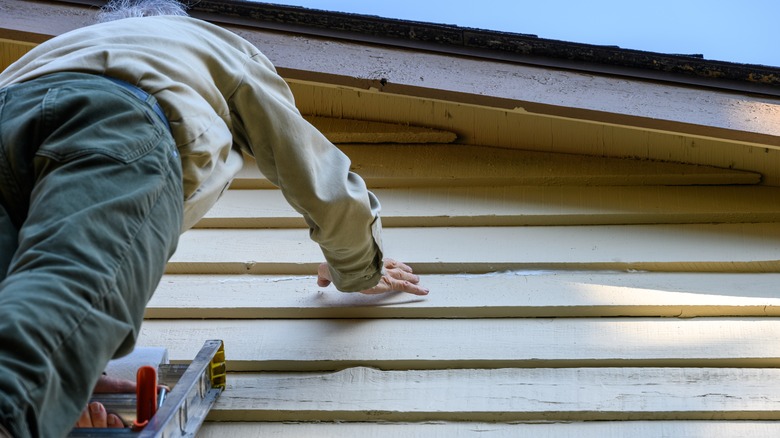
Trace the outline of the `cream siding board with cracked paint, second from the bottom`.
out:
M 211 420 L 780 419 L 780 370 L 534 368 L 233 374 Z

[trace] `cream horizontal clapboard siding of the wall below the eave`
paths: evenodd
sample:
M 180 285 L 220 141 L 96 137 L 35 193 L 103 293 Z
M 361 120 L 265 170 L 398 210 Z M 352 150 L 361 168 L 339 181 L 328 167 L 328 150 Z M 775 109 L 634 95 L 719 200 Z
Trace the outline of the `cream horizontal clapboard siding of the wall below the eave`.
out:
M 199 436 L 780 432 L 780 188 L 701 166 L 341 147 L 378 186 L 387 255 L 431 295 L 318 288 L 303 221 L 247 167 L 182 236 L 139 340 L 184 362 L 225 341 L 228 389 Z M 423 157 L 411 187 L 399 148 Z

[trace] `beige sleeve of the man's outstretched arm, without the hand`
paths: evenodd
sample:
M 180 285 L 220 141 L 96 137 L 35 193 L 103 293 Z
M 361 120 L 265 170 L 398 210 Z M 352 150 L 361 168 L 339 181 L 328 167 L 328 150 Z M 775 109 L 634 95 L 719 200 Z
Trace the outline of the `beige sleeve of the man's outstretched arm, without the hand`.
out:
M 262 55 L 246 66 L 230 96 L 236 143 L 309 225 L 341 291 L 371 289 L 383 278 L 379 202 L 350 161 L 309 124 L 292 93 Z

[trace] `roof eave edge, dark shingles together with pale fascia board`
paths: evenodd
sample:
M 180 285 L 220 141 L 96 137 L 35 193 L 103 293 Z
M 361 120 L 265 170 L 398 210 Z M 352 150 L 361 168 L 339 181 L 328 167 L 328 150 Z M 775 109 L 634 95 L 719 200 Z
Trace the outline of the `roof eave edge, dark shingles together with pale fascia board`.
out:
M 41 42 L 103 3 L 0 1 L 0 38 Z M 191 14 L 255 43 L 291 81 L 780 148 L 773 67 L 235 0 Z

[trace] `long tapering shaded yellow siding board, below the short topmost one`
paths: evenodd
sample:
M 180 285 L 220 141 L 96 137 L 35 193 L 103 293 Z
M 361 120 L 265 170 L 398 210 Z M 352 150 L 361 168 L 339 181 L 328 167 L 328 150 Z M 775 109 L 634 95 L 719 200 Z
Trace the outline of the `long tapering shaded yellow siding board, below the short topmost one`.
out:
M 471 145 L 340 145 L 369 187 L 758 184 L 754 172 Z M 409 162 L 414 157 L 414 162 Z M 233 188 L 268 188 L 252 160 Z

